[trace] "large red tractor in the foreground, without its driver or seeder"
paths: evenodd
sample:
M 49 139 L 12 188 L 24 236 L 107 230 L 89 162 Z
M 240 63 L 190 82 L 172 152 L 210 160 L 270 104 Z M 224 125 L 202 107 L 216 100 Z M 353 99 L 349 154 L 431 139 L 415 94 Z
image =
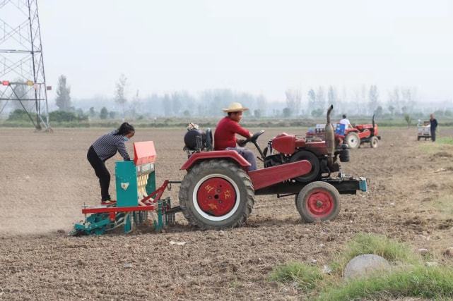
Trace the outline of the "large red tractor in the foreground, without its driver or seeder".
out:
M 249 162 L 234 150 L 213 151 L 211 130 L 189 130 L 184 136 L 189 159 L 181 168 L 187 174 L 181 182 L 178 210 L 193 226 L 231 228 L 245 223 L 255 195 L 295 195 L 303 221 L 334 219 L 340 211 L 340 194 L 366 191 L 367 179 L 340 172 L 339 161 L 349 161 L 349 150 L 335 149 L 332 109 L 327 111 L 324 141 L 307 142 L 282 133 L 261 150 L 257 140 L 264 130 L 247 139 L 264 163 L 256 171 L 248 171 Z

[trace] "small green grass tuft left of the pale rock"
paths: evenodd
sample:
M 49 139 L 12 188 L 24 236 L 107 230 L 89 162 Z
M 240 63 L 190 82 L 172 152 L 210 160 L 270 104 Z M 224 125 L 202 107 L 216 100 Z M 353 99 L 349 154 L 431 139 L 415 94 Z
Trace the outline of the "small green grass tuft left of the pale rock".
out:
M 317 266 L 310 266 L 300 262 L 290 262 L 277 266 L 273 269 L 269 280 L 281 283 L 298 283 L 298 287 L 306 293 L 314 289 L 317 281 L 322 280 L 323 275 Z

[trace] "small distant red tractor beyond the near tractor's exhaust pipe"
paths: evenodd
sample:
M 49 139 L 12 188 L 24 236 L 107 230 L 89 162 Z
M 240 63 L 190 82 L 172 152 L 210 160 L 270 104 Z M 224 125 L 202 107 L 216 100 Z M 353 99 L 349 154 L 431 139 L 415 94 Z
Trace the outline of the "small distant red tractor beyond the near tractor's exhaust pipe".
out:
M 376 148 L 381 136 L 378 135 L 375 116 L 372 116 L 372 124 L 357 124 L 353 128 L 344 129 L 343 133 L 339 131 L 336 135 L 339 141 L 343 141 L 351 149 L 357 149 L 363 143 L 370 143 L 370 147 Z

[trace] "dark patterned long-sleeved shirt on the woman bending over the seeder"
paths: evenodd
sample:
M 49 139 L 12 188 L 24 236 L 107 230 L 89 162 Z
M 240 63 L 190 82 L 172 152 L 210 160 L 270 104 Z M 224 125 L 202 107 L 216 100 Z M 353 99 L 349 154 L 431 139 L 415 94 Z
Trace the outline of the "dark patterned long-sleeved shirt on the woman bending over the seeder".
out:
M 99 159 L 105 161 L 110 159 L 114 154 L 119 152 L 125 161 L 129 161 L 129 154 L 124 145 L 124 137 L 122 135 L 114 135 L 118 133 L 118 130 L 114 130 L 111 133 L 105 134 L 98 138 L 93 143 L 93 149 L 98 154 Z

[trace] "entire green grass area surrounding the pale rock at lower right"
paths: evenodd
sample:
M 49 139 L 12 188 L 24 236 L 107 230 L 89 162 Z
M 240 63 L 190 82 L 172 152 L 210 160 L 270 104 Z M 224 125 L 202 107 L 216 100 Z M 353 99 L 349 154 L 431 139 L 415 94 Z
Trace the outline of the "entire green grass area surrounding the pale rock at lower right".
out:
M 360 254 L 377 254 L 396 264 L 392 270 L 368 277 L 345 280 L 344 266 Z M 427 258 L 425 258 L 427 259 Z M 297 283 L 309 300 L 382 300 L 421 297 L 429 300 L 453 299 L 453 269 L 425 266 L 424 260 L 404 243 L 384 235 L 359 233 L 338 254 L 332 274 L 322 274 L 319 266 L 290 262 L 273 269 L 269 279 Z

